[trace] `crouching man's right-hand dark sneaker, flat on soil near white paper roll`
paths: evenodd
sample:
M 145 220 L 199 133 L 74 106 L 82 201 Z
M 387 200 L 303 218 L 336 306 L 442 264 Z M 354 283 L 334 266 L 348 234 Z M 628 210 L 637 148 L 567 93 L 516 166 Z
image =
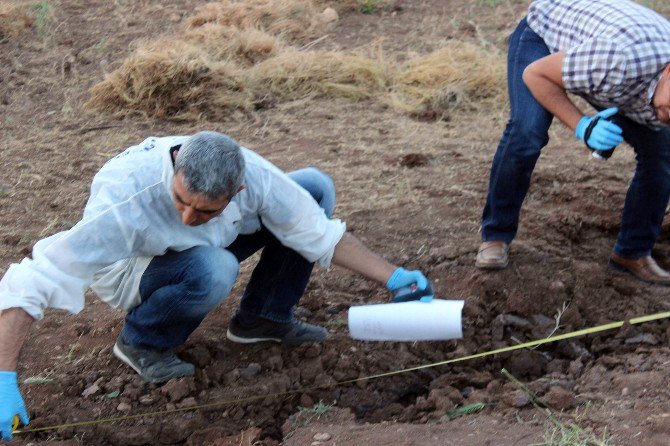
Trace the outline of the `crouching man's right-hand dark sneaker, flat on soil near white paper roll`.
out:
M 243 328 L 235 316 L 230 321 L 226 336 L 240 344 L 274 341 L 295 346 L 306 342 L 323 342 L 328 336 L 328 331 L 323 327 L 298 320 L 281 323 L 262 318 L 259 318 L 253 327 Z

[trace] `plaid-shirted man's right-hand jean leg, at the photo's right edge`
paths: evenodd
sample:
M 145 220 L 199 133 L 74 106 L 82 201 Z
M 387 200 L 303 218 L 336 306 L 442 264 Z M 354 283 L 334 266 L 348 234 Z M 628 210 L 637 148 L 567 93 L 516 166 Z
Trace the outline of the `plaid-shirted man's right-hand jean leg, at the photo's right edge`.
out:
M 627 258 L 651 255 L 670 199 L 670 129 L 651 130 L 617 116 L 637 166 L 621 216 L 614 252 Z

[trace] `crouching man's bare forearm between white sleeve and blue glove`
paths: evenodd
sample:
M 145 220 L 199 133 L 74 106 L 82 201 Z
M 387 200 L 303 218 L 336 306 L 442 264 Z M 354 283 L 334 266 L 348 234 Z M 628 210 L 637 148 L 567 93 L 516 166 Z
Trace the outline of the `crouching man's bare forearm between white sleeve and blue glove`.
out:
M 358 238 L 348 232 L 345 232 L 335 245 L 333 263 L 384 284 L 398 269 L 397 266 L 370 251 Z

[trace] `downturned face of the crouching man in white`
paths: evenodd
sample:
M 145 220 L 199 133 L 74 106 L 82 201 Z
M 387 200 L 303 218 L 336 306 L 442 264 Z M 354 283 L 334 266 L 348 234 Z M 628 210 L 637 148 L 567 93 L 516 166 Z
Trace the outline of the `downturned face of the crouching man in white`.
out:
M 190 193 L 184 186 L 181 172 L 172 180 L 172 197 L 181 221 L 188 226 L 198 226 L 207 223 L 212 218 L 221 215 L 221 212 L 230 203 L 230 198 L 211 200 L 202 195 Z

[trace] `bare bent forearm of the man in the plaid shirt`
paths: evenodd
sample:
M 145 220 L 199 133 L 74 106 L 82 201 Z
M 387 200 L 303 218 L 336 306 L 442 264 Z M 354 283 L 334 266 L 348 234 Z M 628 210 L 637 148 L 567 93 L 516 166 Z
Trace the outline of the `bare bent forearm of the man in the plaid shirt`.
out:
M 584 114 L 570 100 L 563 86 L 564 58 L 565 51 L 559 51 L 536 60 L 524 70 L 523 81 L 537 102 L 575 130 Z

